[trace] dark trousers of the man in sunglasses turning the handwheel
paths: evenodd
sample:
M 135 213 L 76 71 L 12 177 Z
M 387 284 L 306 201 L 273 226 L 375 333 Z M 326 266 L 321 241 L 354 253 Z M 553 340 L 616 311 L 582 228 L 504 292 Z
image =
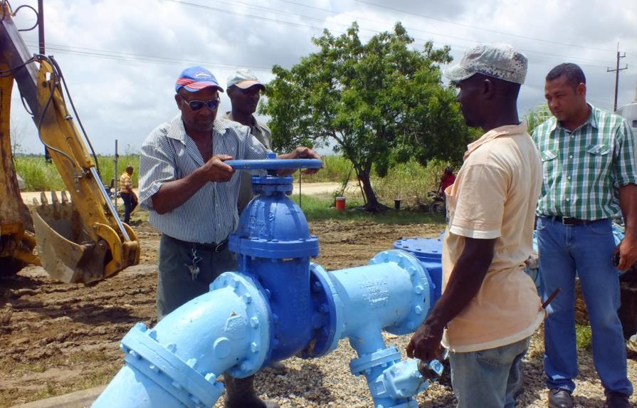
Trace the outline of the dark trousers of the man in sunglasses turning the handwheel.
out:
M 199 273 L 191 273 L 189 266 L 194 258 Z M 209 291 L 217 276 L 226 271 L 236 271 L 236 256 L 224 245 L 195 249 L 193 244 L 162 235 L 159 241 L 159 275 L 157 277 L 157 320 L 162 320 L 179 306 Z

